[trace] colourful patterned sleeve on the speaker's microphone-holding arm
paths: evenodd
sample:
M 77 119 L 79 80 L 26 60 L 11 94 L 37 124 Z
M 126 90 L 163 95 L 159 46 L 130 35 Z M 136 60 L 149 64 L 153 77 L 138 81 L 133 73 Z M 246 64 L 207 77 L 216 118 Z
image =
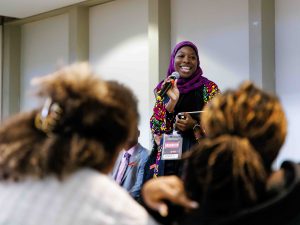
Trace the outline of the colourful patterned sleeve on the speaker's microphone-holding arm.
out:
M 152 134 L 162 135 L 171 133 L 173 130 L 174 114 L 166 109 L 166 99 L 158 97 L 156 99 L 153 115 L 150 118 L 150 128 Z

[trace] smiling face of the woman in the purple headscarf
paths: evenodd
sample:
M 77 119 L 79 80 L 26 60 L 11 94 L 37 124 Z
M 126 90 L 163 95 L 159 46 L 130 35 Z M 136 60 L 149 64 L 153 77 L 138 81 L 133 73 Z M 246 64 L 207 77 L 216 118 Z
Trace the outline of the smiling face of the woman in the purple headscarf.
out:
M 197 54 L 189 46 L 180 48 L 175 55 L 174 67 L 182 78 L 189 78 L 196 71 L 197 63 Z

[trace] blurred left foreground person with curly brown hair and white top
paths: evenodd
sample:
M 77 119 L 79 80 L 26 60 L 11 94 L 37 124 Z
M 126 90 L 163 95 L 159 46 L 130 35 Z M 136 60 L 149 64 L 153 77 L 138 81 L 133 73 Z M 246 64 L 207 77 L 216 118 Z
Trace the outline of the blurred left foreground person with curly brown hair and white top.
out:
M 107 176 L 137 126 L 132 92 L 87 64 L 33 83 L 44 106 L 0 128 L 0 224 L 156 224 Z

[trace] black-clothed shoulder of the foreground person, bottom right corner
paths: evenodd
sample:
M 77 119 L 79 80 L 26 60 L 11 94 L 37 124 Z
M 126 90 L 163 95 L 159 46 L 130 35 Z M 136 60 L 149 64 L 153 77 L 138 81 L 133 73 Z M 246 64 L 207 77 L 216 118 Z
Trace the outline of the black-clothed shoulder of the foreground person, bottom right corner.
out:
M 277 193 L 271 193 L 269 198 L 250 209 L 241 210 L 231 218 L 230 224 L 299 224 L 300 165 L 285 161 L 281 169 L 284 171 L 284 185 Z

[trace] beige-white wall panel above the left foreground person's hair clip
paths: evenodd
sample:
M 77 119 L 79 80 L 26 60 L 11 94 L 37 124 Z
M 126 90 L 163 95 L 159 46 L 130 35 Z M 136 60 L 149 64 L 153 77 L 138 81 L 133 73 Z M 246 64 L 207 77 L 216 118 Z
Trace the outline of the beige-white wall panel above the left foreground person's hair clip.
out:
M 37 105 L 32 101 L 33 77 L 53 72 L 68 64 L 68 16 L 66 14 L 27 23 L 22 26 L 21 39 L 21 110 Z

